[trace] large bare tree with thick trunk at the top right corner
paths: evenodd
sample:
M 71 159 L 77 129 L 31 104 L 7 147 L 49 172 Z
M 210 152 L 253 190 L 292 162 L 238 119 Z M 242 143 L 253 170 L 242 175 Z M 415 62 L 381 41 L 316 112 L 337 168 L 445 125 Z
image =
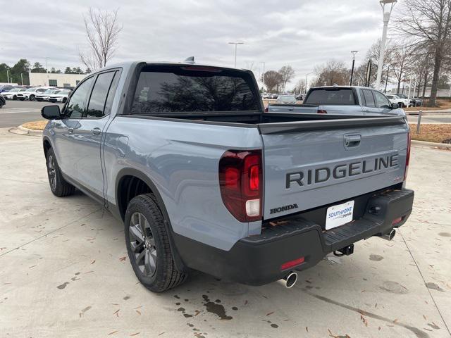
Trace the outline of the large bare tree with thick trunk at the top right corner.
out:
M 450 55 L 451 0 L 405 0 L 395 29 L 416 47 L 431 47 L 434 70 L 430 106 L 436 105 L 438 80 L 443 61 Z

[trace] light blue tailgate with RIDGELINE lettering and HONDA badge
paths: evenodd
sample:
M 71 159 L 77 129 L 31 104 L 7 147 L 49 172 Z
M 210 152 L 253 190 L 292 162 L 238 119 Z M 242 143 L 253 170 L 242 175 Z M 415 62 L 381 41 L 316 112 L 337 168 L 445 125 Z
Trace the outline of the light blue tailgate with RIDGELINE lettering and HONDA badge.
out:
M 259 125 L 264 143 L 264 218 L 352 200 L 404 180 L 402 118 Z

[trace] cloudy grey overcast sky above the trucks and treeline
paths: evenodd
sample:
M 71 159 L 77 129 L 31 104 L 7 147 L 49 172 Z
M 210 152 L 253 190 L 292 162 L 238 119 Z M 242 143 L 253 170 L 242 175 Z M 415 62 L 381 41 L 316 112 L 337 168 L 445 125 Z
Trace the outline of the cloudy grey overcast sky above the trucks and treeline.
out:
M 112 63 L 194 56 L 233 66 L 227 42 L 236 41 L 245 42 L 237 67 L 253 63 L 258 76 L 261 61 L 266 70 L 288 64 L 298 79 L 330 58 L 351 63 L 354 49 L 359 64 L 382 33 L 378 0 L 0 0 L 0 63 L 27 58 L 45 65 L 47 57 L 49 68 L 81 66 L 78 50 L 87 47 L 82 15 L 89 6 L 119 8 L 123 30 Z

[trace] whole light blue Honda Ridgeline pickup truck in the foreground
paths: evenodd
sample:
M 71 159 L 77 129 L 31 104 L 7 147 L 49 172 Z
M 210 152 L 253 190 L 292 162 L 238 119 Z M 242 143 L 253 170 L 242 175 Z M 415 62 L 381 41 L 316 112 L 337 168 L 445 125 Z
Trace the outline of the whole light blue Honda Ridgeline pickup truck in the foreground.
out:
M 111 65 L 42 116 L 51 192 L 80 189 L 123 221 L 153 292 L 192 270 L 291 287 L 412 211 L 404 116 L 265 113 L 249 70 Z

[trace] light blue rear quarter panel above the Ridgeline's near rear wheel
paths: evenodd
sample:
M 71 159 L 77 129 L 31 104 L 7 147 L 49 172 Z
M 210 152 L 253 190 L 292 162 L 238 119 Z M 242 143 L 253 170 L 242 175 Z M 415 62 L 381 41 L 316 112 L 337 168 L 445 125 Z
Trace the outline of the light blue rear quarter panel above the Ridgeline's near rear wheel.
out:
M 230 249 L 259 234 L 261 222 L 240 223 L 223 205 L 218 162 L 228 149 L 261 149 L 254 127 L 132 118 L 118 115 L 106 132 L 106 197 L 117 204 L 115 184 L 123 168 L 149 177 L 166 206 L 173 231 Z

